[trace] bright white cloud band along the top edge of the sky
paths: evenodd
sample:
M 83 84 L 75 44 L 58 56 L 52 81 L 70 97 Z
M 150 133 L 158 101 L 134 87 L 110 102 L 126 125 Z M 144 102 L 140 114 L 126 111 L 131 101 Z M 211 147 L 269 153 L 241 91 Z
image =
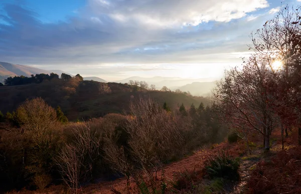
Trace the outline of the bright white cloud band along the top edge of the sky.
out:
M 107 14 L 122 22 L 138 22 L 157 27 L 197 26 L 202 22 L 229 22 L 248 13 L 267 8 L 266 0 L 90 0 L 89 8 L 95 15 Z

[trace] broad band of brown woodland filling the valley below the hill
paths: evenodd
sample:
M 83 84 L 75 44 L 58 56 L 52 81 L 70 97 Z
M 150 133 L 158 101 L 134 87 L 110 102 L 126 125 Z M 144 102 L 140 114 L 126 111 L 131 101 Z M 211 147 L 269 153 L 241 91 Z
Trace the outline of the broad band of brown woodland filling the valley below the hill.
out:
M 166 103 L 139 99 L 128 114 L 73 123 L 42 99 L 28 100 L 0 116 L 0 184 L 37 189 L 64 183 L 75 193 L 83 183 L 122 175 L 128 185 L 134 177 L 138 187 L 155 189 L 149 184 L 159 183 L 156 172 L 165 163 L 226 136 L 213 109 L 181 105 L 173 112 Z

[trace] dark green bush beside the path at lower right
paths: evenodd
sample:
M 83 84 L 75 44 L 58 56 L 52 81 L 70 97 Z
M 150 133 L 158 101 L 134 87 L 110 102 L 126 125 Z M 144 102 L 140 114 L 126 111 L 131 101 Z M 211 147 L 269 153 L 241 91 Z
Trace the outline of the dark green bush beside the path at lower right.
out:
M 211 178 L 223 177 L 229 180 L 239 180 L 239 161 L 229 156 L 224 150 L 209 161 L 206 166 L 207 173 Z

